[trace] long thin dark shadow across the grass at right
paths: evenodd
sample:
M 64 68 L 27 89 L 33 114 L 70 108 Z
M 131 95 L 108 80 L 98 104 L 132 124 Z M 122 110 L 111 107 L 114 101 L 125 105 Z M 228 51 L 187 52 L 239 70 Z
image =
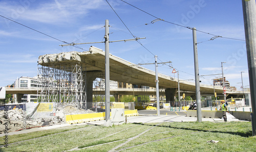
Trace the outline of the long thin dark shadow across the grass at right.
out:
M 186 123 L 186 122 L 182 122 Z M 212 131 L 212 130 L 204 130 L 204 129 L 193 129 L 190 127 L 176 127 L 176 126 L 164 126 L 164 125 L 155 125 L 155 124 L 145 124 L 145 123 L 134 123 L 134 124 L 141 124 L 141 125 L 148 125 L 148 126 L 158 126 L 158 127 L 165 127 L 165 128 L 173 128 L 178 130 L 190 130 L 190 131 L 197 131 L 197 132 L 211 132 L 211 133 L 223 133 L 223 134 L 230 134 L 230 135 L 238 135 L 241 137 L 251 137 L 252 131 L 247 131 L 245 133 L 242 132 L 226 132 L 226 131 Z

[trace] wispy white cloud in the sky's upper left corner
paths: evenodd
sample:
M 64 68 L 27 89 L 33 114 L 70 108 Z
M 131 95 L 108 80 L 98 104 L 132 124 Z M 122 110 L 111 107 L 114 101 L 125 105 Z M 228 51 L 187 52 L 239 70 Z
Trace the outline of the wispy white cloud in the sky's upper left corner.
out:
M 66 23 L 70 19 L 76 19 L 78 16 L 87 15 L 89 10 L 101 8 L 105 3 L 102 0 L 94 1 L 61 1 L 50 3 L 40 3 L 36 6 L 38 2 L 30 2 L 27 4 L 22 4 L 22 1 L 13 1 L 11 3 L 0 2 L 0 13 L 6 15 L 6 17 L 17 20 L 25 19 L 38 21 L 43 23 L 59 24 Z M 33 7 L 32 7 L 33 6 Z

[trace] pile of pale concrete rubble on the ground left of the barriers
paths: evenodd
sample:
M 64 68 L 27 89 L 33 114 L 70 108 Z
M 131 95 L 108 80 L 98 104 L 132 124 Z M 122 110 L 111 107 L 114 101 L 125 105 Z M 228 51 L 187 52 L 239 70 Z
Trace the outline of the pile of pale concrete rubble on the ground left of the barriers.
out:
M 65 115 L 94 113 L 94 111 L 91 110 L 78 109 L 73 105 L 56 107 L 55 116 L 49 118 L 24 119 L 24 111 L 22 109 L 14 109 L 7 111 L 8 117 L 6 119 L 5 112 L 6 111 L 4 110 L 0 111 L 0 134 L 3 134 L 4 131 L 6 131 L 6 124 L 8 124 L 8 132 L 15 132 L 25 129 L 25 124 L 26 129 L 39 126 L 62 124 L 65 123 Z

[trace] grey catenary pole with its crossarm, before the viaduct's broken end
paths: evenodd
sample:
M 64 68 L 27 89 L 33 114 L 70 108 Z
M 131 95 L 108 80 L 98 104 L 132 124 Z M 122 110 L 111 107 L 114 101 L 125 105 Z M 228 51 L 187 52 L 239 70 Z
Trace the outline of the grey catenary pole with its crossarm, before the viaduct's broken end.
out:
M 109 20 L 105 20 L 105 41 L 104 42 L 89 42 L 89 43 L 71 43 L 71 44 L 61 44 L 59 46 L 73 46 L 78 44 L 92 44 L 92 43 L 105 43 L 105 124 L 104 126 L 110 126 L 110 58 L 109 58 L 109 43 L 110 42 L 120 42 L 120 41 L 134 41 L 138 39 L 144 38 L 135 38 L 135 39 L 126 39 L 126 40 L 117 40 L 117 41 L 109 41 Z

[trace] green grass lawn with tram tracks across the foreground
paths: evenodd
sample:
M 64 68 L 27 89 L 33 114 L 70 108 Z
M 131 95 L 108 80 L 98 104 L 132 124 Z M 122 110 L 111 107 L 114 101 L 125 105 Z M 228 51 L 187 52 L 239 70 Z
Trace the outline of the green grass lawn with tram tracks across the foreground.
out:
M 8 143 L 18 143 L 0 151 L 256 151 L 251 135 L 246 121 L 71 125 L 8 136 Z

